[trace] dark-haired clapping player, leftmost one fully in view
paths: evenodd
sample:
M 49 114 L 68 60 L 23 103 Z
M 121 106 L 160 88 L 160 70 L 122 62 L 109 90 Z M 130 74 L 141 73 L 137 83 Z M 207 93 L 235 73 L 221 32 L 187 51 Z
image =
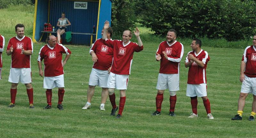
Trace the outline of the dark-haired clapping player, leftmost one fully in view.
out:
M 29 108 L 33 105 L 33 87 L 31 80 L 30 55 L 33 53 L 33 43 L 31 38 L 24 36 L 24 25 L 17 24 L 15 26 L 16 37 L 9 40 L 6 54 L 12 55 L 12 63 L 8 81 L 11 86 L 11 103 L 8 107 L 15 106 L 17 86 L 19 82 L 25 84 L 27 88 Z

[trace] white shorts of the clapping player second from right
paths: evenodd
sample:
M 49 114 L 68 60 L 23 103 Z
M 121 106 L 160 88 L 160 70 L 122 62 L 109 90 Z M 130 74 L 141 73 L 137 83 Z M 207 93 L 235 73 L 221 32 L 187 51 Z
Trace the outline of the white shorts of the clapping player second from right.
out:
M 206 83 L 201 84 L 187 84 L 186 96 L 189 97 L 204 97 L 207 96 Z

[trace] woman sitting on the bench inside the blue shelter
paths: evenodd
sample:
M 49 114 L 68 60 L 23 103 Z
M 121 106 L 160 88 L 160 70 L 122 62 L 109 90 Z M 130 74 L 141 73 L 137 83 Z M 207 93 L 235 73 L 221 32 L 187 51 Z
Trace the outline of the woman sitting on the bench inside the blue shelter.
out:
M 67 24 L 68 23 L 68 24 Z M 66 32 L 68 25 L 71 25 L 68 18 L 65 17 L 65 13 L 61 13 L 61 18 L 58 19 L 57 26 L 59 27 L 57 30 L 58 44 L 60 44 L 60 35 Z

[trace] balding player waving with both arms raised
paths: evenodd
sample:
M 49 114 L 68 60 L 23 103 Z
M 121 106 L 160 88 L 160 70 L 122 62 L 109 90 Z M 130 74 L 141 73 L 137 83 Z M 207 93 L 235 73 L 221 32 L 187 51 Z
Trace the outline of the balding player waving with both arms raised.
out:
M 134 31 L 134 35 L 138 40 L 138 44 L 130 41 L 132 38 L 132 32 L 125 30 L 123 32 L 123 40 L 109 40 L 107 39 L 107 29 L 109 27 L 109 22 L 105 21 L 104 33 L 102 39 L 105 40 L 105 44 L 109 47 L 113 47 L 114 59 L 113 65 L 110 70 L 108 77 L 108 95 L 109 100 L 112 105 L 112 110 L 110 115 L 115 115 L 118 107 L 116 106 L 116 96 L 114 93 L 115 88 L 120 91 L 120 101 L 119 101 L 119 111 L 116 116 L 117 119 L 122 117 L 122 112 L 125 104 L 125 90 L 127 89 L 129 75 L 132 65 L 132 57 L 134 52 L 140 52 L 143 50 L 143 44 L 140 40 L 140 32 L 138 28 Z

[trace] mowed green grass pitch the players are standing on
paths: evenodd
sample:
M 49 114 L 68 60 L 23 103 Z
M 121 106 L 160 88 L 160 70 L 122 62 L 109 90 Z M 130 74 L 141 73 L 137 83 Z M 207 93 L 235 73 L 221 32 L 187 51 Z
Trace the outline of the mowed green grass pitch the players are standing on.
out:
M 7 45 L 9 38 L 15 33 L 6 31 L 2 34 L 7 34 Z M 35 109 L 28 108 L 28 97 L 23 84 L 18 85 L 16 106 L 7 108 L 10 103 L 11 84 L 8 82 L 8 76 L 11 57 L 5 54 L 5 47 L 3 79 L 0 80 L 0 137 L 254 137 L 255 121 L 247 121 L 251 112 L 252 94 L 246 100 L 243 120 L 231 121 L 237 110 L 241 87 L 239 68 L 244 49 L 202 45 L 211 58 L 207 66 L 207 93 L 214 120 L 207 119 L 203 101 L 199 98 L 198 118 L 188 118 L 192 109 L 190 98 L 185 96 L 188 74 L 188 68 L 184 67 L 185 56 L 180 66 L 180 91 L 177 92 L 176 117 L 168 116 L 168 91 L 164 93 L 162 114 L 151 116 L 150 114 L 156 110 L 156 82 L 160 66 L 160 62 L 155 59 L 155 52 L 162 40 L 156 42 L 155 39 L 150 41 L 150 38 L 141 38 L 144 50 L 134 53 L 126 103 L 120 120 L 109 115 L 111 111 L 109 100 L 105 106 L 106 111 L 100 111 L 99 87 L 96 87 L 92 98 L 92 108 L 81 109 L 86 102 L 86 90 L 93 64 L 87 46 L 66 45 L 72 51 L 72 55 L 64 67 L 66 92 L 63 111 L 56 108 L 57 88 L 53 89 L 53 108 L 43 110 L 47 103 L 45 89 L 42 87 L 43 78 L 38 75 L 37 67 L 38 52 L 44 45 L 42 43 L 34 44 L 34 53 L 31 57 Z M 179 41 L 184 45 L 186 55 L 190 51 L 191 40 L 179 39 Z M 215 41 L 209 40 L 209 43 L 220 43 L 218 40 Z M 251 45 L 249 42 L 245 41 L 246 44 L 242 47 Z M 207 43 L 203 41 L 203 44 Z M 234 43 L 236 44 L 238 42 Z M 220 45 L 228 44 L 220 43 Z M 116 102 L 119 103 L 118 91 L 116 97 Z

